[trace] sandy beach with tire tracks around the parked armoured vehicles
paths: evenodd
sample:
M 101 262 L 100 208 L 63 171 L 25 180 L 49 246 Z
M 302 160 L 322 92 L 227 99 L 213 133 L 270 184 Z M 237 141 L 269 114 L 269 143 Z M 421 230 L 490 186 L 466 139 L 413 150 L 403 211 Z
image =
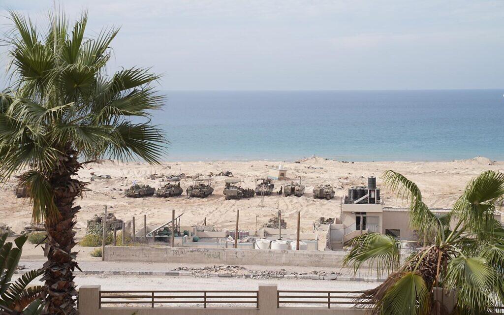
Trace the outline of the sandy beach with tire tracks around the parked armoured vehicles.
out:
M 176 214 L 183 214 L 182 225 L 201 225 L 207 218 L 208 225 L 215 225 L 219 229 L 234 227 L 236 210 L 240 210 L 240 229 L 255 229 L 256 216 L 258 227 L 261 227 L 271 217 L 276 215 L 278 207 L 287 227 L 294 227 L 296 212 L 301 211 L 301 229 L 309 231 L 312 223 L 319 217 L 338 217 L 340 201 L 351 186 L 365 184 L 367 176 L 376 176 L 378 185 L 381 174 L 392 169 L 414 180 L 420 187 L 423 200 L 430 207 L 450 208 L 467 182 L 484 170 L 504 169 L 504 162 L 493 162 L 487 158 L 478 157 L 469 160 L 450 162 L 340 162 L 312 157 L 301 160 L 299 163 L 282 162 L 288 169 L 287 176 L 290 180 L 302 177 L 305 185 L 304 196 L 255 197 L 243 200 L 224 199 L 222 190 L 224 180 L 228 177 L 211 177 L 214 194 L 206 199 L 187 199 L 185 194 L 173 198 L 126 198 L 123 190 L 128 188 L 133 181 L 160 187 L 159 179 L 150 179 L 151 174 L 208 176 L 211 172 L 217 174 L 229 170 L 234 178 L 243 179 L 242 186 L 254 188 L 254 180 L 267 175 L 268 168 L 278 166 L 278 162 L 271 161 L 214 161 L 214 162 L 163 162 L 161 165 L 152 166 L 147 163 L 122 164 L 114 161 L 103 161 L 88 165 L 79 172 L 79 179 L 89 182 L 87 187 L 91 190 L 86 193 L 77 204 L 82 210 L 77 216 L 78 236 L 85 233 L 87 220 L 103 211 L 104 205 L 108 206 L 119 219 L 131 220 L 136 216 L 147 215 L 149 225 L 162 224 L 171 219 L 171 210 Z M 111 179 L 97 179 L 90 181 L 91 172 L 97 175 L 110 175 Z M 275 190 L 279 189 L 285 181 L 275 181 Z M 182 180 L 181 186 L 185 188 L 192 183 L 191 179 Z M 336 196 L 332 200 L 314 200 L 312 188 L 316 184 L 331 184 L 335 188 Z M 21 232 L 25 224 L 31 220 L 30 204 L 28 199 L 18 199 L 14 194 L 16 178 L 12 178 L 2 189 L 0 196 L 0 222 L 5 222 L 15 232 Z M 385 206 L 404 206 L 401 200 L 386 189 L 382 190 Z

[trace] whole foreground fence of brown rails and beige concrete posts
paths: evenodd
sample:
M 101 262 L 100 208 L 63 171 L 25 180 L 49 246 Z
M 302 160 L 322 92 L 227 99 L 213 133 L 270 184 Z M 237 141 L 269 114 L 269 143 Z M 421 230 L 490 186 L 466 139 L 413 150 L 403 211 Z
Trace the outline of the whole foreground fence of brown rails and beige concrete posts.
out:
M 278 291 L 274 284 L 259 285 L 258 290 L 198 291 L 102 291 L 100 286 L 82 286 L 79 290 L 79 312 L 81 315 L 365 314 L 365 308 L 353 307 L 351 303 L 357 291 L 336 292 Z M 320 300 L 321 294 L 324 294 L 324 302 Z

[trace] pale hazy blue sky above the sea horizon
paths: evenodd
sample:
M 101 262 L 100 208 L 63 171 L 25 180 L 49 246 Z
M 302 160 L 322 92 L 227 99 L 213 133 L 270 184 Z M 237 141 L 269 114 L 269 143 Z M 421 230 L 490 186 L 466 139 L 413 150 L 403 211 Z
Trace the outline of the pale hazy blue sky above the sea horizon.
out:
M 71 18 L 89 10 L 88 34 L 121 26 L 110 68 L 152 66 L 166 90 L 504 87 L 501 0 L 60 4 Z M 41 19 L 52 6 L 0 0 L 0 24 L 7 29 L 6 9 Z

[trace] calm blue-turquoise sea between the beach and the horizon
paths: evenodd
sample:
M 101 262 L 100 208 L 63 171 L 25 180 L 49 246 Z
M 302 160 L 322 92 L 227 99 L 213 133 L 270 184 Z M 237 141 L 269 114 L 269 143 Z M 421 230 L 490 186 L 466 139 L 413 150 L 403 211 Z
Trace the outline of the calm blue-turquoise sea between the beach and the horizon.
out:
M 165 93 L 168 160 L 504 160 L 504 89 Z

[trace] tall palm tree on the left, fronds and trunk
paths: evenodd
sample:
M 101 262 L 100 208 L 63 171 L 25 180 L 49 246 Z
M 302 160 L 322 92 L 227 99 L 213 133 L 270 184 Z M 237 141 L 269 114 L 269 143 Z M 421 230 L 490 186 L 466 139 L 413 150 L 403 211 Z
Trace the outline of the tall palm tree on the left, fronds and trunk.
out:
M 166 141 L 150 123 L 149 111 L 164 98 L 153 88 L 149 69 L 107 75 L 110 42 L 117 29 L 86 38 L 87 13 L 69 28 L 62 13 L 49 14 L 49 27 L 10 13 L 8 33 L 13 87 L 0 95 L 0 179 L 23 170 L 33 220 L 44 221 L 48 261 L 44 265 L 45 312 L 75 309 L 75 205 L 86 182 L 75 178 L 87 163 L 103 158 L 142 158 L 159 163 Z M 133 122 L 131 116 L 139 116 Z M 140 122 L 139 122 L 140 121 Z

